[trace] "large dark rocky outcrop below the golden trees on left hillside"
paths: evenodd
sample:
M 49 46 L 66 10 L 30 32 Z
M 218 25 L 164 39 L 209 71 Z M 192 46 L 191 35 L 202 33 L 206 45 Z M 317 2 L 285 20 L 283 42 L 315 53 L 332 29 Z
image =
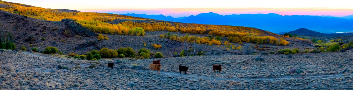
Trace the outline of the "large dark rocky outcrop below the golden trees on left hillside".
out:
M 80 35 L 84 37 L 94 37 L 97 36 L 96 33 L 92 32 L 90 29 L 83 27 L 79 23 L 71 19 L 62 19 L 62 23 L 66 26 L 65 30 L 61 31 L 61 34 L 67 37 L 72 37 L 75 35 Z

